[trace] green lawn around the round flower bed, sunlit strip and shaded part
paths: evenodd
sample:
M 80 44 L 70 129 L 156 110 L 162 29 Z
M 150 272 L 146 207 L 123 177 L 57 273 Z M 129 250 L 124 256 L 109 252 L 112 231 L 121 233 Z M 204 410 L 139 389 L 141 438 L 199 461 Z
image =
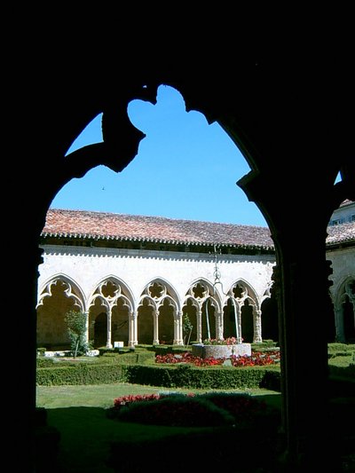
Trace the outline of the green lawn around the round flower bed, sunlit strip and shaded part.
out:
M 112 441 L 139 441 L 166 438 L 169 435 L 200 431 L 117 422 L 106 417 L 106 408 L 113 406 L 114 398 L 127 394 L 166 392 L 162 388 L 129 383 L 86 386 L 38 386 L 38 407 L 47 411 L 48 424 L 59 430 L 60 473 L 113 473 L 106 464 Z M 192 390 L 175 390 L 191 392 Z M 205 392 L 205 390 L 193 390 Z M 246 391 L 243 391 L 246 392 Z M 280 393 L 270 390 L 248 390 L 262 396 L 272 406 L 280 406 Z M 51 469 L 49 469 L 51 471 Z

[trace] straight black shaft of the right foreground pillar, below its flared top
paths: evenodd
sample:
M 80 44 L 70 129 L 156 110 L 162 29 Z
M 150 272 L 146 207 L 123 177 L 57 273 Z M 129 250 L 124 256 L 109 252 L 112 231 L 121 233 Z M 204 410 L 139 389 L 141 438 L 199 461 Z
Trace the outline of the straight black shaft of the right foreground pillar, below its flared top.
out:
M 283 418 L 287 442 L 287 456 L 291 464 L 300 468 L 315 468 L 329 461 L 331 445 L 327 438 L 327 324 L 321 314 L 327 313 L 327 277 L 324 240 L 312 238 L 309 233 L 307 266 L 304 253 L 297 246 L 287 248 L 282 254 L 280 284 L 280 350 L 281 390 L 283 393 Z M 319 248 L 315 251 L 314 248 Z M 294 250 L 295 249 L 295 250 Z M 321 268 L 323 267 L 323 272 Z M 318 272 L 311 271 L 317 268 Z M 318 280 L 318 284 L 314 281 Z M 304 288 L 312 288 L 312 295 Z M 313 301 L 319 301 L 314 311 Z M 305 336 L 312 339 L 312 363 L 309 362 Z M 315 368 L 316 367 L 316 368 Z M 317 393 L 317 402 L 312 402 Z M 311 395 L 311 398 L 310 398 Z M 314 439 L 318 441 L 315 442 Z M 328 446 L 327 446 L 328 445 Z

